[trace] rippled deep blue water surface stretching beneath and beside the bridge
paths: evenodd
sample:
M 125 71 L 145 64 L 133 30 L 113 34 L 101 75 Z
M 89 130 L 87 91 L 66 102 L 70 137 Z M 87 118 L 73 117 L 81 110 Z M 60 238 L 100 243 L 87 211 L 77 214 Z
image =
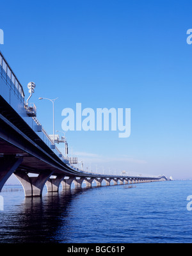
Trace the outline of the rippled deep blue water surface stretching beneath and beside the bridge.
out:
M 44 188 L 42 198 L 4 186 L 0 195 L 0 243 L 192 242 L 192 180 L 59 193 Z

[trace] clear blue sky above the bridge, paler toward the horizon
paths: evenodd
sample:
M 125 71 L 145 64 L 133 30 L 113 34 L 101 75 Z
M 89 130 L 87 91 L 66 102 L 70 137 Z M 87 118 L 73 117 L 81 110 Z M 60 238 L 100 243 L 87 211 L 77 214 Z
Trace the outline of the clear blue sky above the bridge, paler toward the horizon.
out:
M 85 166 L 192 179 L 191 1 L 2 1 L 0 50 L 38 120 L 61 130 L 63 108 L 131 108 L 131 136 L 68 131 Z

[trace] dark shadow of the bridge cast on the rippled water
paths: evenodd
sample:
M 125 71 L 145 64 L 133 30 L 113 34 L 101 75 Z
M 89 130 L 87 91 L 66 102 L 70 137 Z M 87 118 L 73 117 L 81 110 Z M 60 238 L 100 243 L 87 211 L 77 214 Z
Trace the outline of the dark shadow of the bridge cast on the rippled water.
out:
M 9 227 L 4 226 L 1 243 L 67 243 L 72 205 L 88 190 L 68 189 L 46 193 L 42 198 L 25 198 L 4 223 Z

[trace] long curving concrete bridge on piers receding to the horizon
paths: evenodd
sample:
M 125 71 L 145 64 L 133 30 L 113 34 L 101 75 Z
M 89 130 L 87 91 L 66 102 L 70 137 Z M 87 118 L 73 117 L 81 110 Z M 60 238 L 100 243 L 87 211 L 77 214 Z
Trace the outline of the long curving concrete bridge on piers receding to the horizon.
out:
M 0 191 L 14 173 L 25 196 L 42 196 L 47 191 L 167 180 L 164 175 L 109 175 L 85 172 L 74 159 L 63 156 L 36 118 L 36 107 L 24 99 L 24 90 L 12 68 L 0 52 Z M 31 175 L 32 173 L 32 175 Z

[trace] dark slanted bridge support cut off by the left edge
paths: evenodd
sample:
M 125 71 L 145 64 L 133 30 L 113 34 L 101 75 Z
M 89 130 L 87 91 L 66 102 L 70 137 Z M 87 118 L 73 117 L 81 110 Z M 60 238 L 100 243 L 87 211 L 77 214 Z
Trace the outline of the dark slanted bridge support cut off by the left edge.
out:
M 16 158 L 15 156 L 6 155 L 0 157 L 0 192 L 6 180 L 15 172 L 20 163 L 22 163 L 22 157 Z

